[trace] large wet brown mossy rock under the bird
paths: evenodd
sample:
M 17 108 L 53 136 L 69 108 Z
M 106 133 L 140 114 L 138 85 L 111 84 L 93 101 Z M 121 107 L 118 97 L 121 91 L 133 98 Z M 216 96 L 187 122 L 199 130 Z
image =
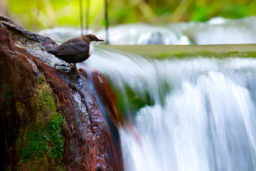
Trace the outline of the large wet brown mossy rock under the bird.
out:
M 123 170 L 104 76 L 73 77 L 67 63 L 41 51 L 54 41 L 3 15 L 0 34 L 1 170 Z

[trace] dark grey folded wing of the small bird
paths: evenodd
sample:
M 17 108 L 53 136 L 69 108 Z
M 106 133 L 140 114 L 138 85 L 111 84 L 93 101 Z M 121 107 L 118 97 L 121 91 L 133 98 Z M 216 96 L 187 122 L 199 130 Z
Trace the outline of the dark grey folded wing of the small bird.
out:
M 55 55 L 77 55 L 89 50 L 86 42 L 72 42 L 64 45 Z

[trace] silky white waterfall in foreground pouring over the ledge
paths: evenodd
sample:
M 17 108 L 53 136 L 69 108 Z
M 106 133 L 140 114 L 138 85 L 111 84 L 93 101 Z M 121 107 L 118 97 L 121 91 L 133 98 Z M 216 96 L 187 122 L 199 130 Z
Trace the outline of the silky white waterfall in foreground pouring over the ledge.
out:
M 256 59 L 96 50 L 87 63 L 110 78 L 130 116 L 120 129 L 125 170 L 256 170 Z M 130 110 L 126 85 L 154 105 Z

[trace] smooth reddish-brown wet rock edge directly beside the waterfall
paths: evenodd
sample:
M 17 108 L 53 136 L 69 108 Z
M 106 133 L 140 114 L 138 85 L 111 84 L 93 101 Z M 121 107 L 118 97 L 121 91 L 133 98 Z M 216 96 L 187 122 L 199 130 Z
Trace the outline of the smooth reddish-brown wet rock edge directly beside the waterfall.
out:
M 99 71 L 86 71 L 84 69 L 80 69 L 80 71 L 92 82 L 97 93 L 96 96 L 99 97 L 98 101 L 103 104 L 101 109 L 97 111 L 102 113 L 100 116 L 104 116 L 103 120 L 106 122 L 107 147 L 112 151 L 112 153 L 109 153 L 109 163 L 111 163 L 113 170 L 123 170 L 123 165 L 120 161 L 122 155 L 117 130 L 118 121 L 121 121 L 121 114 L 117 108 L 115 94 L 104 75 Z

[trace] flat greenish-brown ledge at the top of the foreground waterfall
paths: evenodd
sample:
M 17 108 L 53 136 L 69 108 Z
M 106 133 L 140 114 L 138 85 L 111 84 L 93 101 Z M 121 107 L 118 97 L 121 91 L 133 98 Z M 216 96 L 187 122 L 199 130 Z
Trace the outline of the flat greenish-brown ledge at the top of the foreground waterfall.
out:
M 172 59 L 187 57 L 256 57 L 256 44 L 241 45 L 98 45 L 107 48 L 130 52 L 154 59 Z

